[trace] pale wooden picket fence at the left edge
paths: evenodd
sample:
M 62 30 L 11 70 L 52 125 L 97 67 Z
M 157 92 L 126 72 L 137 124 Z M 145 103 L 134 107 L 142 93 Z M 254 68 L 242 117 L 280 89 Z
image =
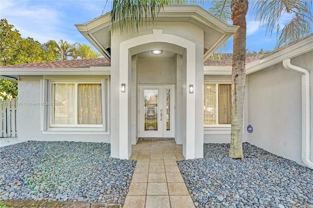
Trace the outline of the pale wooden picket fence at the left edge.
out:
M 17 99 L 0 99 L 0 137 L 17 137 Z

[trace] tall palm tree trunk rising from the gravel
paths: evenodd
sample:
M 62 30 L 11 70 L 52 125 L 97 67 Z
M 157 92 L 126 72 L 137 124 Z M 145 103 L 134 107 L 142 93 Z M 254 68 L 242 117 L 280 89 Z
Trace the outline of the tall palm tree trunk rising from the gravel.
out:
M 233 65 L 232 65 L 232 109 L 231 109 L 231 135 L 229 157 L 240 159 L 243 154 L 243 120 L 244 99 L 246 85 L 246 13 L 247 0 L 232 0 L 231 18 L 233 25 L 240 28 L 233 36 Z

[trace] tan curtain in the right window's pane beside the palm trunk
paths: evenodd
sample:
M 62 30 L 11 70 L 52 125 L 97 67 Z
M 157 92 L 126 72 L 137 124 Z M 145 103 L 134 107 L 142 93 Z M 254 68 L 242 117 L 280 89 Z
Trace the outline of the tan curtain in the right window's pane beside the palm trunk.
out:
M 219 124 L 231 124 L 231 84 L 219 84 Z

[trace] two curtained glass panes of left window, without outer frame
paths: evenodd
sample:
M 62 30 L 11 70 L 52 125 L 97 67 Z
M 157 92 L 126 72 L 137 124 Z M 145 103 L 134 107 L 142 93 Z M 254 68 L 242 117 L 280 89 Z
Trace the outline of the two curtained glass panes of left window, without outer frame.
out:
M 101 83 L 52 83 L 51 127 L 102 125 Z

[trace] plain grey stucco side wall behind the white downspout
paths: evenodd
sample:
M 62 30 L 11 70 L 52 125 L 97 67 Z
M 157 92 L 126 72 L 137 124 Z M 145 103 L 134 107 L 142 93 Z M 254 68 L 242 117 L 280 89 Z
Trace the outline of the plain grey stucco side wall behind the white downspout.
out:
M 291 64 L 309 70 L 311 102 L 313 92 L 313 52 L 291 59 Z M 313 109 L 311 103 L 311 129 Z M 301 75 L 286 70 L 282 62 L 248 75 L 248 135 L 252 145 L 296 161 L 301 160 Z M 312 150 L 311 130 L 311 150 Z M 312 155 L 312 151 L 311 151 Z M 312 158 L 311 158 L 312 160 Z

